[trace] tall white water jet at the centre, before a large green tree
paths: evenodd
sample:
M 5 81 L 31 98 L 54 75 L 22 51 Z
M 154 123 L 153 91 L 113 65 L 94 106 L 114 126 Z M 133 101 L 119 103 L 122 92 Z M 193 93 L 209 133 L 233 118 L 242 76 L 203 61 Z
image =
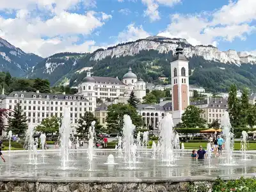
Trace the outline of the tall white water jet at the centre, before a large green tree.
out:
M 129 115 L 124 115 L 124 127 L 123 127 L 123 139 L 124 139 L 124 160 L 128 163 L 128 168 L 132 169 L 132 163 L 134 164 L 134 158 L 132 159 L 133 148 L 133 132 L 135 130 L 135 125 L 132 124 L 131 117 Z

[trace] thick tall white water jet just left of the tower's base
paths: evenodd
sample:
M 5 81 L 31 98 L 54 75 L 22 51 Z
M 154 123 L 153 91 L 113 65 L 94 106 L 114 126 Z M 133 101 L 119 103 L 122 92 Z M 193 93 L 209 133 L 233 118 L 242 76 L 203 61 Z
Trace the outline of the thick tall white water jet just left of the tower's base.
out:
M 162 161 L 166 162 L 166 166 L 173 166 L 174 157 L 173 157 L 173 140 L 174 140 L 174 132 L 173 132 L 173 120 L 172 114 L 168 113 L 160 122 L 160 153 Z

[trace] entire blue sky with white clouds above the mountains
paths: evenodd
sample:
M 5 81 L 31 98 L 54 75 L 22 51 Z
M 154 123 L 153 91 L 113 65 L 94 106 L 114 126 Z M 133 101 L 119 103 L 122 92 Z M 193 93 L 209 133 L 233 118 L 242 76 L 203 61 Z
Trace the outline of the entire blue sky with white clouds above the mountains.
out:
M 42 57 L 159 35 L 256 55 L 256 0 L 1 0 L 0 37 Z

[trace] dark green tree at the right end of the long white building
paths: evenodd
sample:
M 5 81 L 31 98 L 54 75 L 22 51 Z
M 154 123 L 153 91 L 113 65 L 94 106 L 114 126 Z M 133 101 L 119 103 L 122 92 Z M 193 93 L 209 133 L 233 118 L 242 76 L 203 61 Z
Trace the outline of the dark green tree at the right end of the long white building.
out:
M 78 127 L 77 127 L 76 131 L 83 135 L 88 133 L 89 127 L 91 126 L 93 121 L 96 122 L 95 131 L 100 132 L 102 125 L 99 124 L 99 121 L 97 120 L 97 118 L 90 111 L 86 111 L 84 113 L 84 116 L 81 116 L 81 118 L 79 118 Z

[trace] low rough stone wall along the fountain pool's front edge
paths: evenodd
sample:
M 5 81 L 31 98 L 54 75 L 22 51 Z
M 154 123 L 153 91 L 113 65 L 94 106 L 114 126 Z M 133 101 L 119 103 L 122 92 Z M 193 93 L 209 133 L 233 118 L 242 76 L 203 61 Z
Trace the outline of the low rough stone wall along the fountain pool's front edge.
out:
M 1 180 L 1 179 L 0 179 Z M 189 185 L 202 182 L 31 182 L 0 181 L 0 191 L 8 192 L 185 192 Z M 207 191 L 205 191 L 207 192 Z

